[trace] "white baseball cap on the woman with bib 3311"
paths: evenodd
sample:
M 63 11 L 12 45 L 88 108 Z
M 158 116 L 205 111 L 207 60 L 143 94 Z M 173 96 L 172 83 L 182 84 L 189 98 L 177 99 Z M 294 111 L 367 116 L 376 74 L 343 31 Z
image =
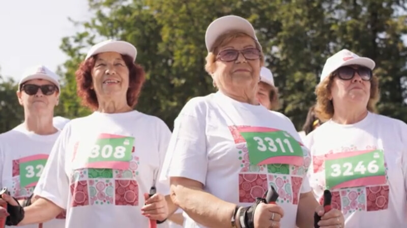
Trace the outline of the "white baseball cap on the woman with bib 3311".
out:
M 212 21 L 212 23 L 208 26 L 205 34 L 205 44 L 208 52 L 211 51 L 216 39 L 218 39 L 219 36 L 232 30 L 242 31 L 258 43 L 256 32 L 248 20 L 244 19 L 243 17 L 228 15 Z

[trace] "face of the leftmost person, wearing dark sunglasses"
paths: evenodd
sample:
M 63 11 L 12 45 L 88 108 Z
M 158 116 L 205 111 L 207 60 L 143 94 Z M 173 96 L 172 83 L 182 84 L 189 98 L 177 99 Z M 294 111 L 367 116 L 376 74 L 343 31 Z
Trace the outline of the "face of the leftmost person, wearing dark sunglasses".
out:
M 56 88 L 52 82 L 43 79 L 28 80 L 22 86 L 27 85 L 47 85 Z M 53 114 L 54 107 L 59 102 L 59 91 L 55 89 L 52 94 L 45 95 L 39 88 L 37 93 L 28 95 L 22 88 L 20 91 L 17 91 L 17 97 L 20 105 L 24 107 L 24 112 L 34 115 L 49 115 Z

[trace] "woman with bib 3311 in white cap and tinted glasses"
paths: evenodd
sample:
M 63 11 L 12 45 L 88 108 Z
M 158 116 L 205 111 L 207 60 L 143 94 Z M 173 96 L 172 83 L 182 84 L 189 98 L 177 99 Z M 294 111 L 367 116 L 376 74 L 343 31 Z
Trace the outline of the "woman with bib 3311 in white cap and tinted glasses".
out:
M 306 177 L 308 151 L 290 120 L 256 98 L 264 55 L 252 25 L 238 16 L 206 32 L 206 70 L 219 89 L 191 99 L 175 120 L 161 180 L 188 215 L 185 227 L 311 227 L 324 214 Z M 262 198 L 269 186 L 276 204 Z M 343 227 L 338 210 L 321 227 Z

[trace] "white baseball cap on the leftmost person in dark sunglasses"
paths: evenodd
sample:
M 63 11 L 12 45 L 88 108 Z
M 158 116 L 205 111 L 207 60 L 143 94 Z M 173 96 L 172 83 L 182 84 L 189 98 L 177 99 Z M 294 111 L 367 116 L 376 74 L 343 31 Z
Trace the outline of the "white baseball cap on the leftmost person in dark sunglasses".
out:
M 24 82 L 33 80 L 33 79 L 43 79 L 43 80 L 48 80 L 52 82 L 53 84 L 58 87 L 58 91 L 61 91 L 60 83 L 59 83 L 59 76 L 50 71 L 48 68 L 46 68 L 43 65 L 38 65 L 34 66 L 31 68 L 28 68 L 22 75 L 20 82 L 18 83 L 18 89 L 20 90 L 21 85 L 24 84 Z

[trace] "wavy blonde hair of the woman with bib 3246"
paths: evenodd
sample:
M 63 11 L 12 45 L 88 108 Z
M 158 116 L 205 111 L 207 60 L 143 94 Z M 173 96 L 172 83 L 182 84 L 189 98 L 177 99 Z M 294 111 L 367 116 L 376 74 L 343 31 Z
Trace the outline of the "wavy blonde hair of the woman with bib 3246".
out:
M 316 106 L 314 111 L 316 117 L 323 121 L 331 119 L 335 112 L 333 103 L 330 100 L 334 76 L 335 75 L 331 73 L 329 77 L 324 79 L 315 88 Z M 376 112 L 376 103 L 379 99 L 379 79 L 373 75 L 370 81 L 370 97 L 367 103 L 367 110 L 370 112 Z

